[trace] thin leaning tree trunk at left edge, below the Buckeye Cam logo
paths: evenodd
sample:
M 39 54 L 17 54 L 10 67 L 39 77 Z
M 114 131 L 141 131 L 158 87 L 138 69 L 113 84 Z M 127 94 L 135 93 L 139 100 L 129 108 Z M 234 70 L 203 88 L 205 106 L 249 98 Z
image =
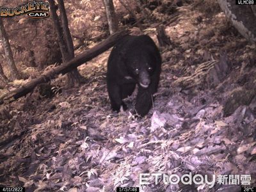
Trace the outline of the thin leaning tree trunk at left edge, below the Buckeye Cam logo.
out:
M 11 46 L 9 44 L 9 39 L 4 29 L 3 20 L 1 18 L 0 18 L 0 36 L 2 38 L 4 53 L 6 56 L 8 67 L 10 69 L 12 80 L 20 79 L 19 72 L 13 60 L 13 54 L 12 54 Z

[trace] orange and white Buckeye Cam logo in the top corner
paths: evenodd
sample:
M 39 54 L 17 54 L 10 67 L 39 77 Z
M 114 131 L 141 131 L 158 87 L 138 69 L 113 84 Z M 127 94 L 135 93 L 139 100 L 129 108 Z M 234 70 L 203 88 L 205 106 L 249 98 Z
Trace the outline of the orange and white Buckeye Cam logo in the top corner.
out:
M 31 1 L 15 8 L 0 6 L 0 17 L 13 17 L 24 14 L 35 19 L 49 17 L 49 3 L 43 1 Z

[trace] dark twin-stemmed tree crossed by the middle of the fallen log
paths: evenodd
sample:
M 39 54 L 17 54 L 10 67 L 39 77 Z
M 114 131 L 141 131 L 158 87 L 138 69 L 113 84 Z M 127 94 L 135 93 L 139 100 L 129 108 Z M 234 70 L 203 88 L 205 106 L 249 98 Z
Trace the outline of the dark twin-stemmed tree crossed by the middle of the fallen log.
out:
M 72 60 L 74 58 L 74 44 L 68 28 L 68 19 L 63 1 L 58 0 L 58 7 L 60 8 L 60 20 L 56 13 L 56 5 L 54 0 L 49 0 L 51 7 L 52 21 L 56 29 L 58 36 L 58 43 L 60 45 L 60 51 L 62 55 L 63 63 Z M 83 81 L 83 77 L 79 74 L 77 68 L 68 73 L 68 84 L 70 86 L 79 85 Z

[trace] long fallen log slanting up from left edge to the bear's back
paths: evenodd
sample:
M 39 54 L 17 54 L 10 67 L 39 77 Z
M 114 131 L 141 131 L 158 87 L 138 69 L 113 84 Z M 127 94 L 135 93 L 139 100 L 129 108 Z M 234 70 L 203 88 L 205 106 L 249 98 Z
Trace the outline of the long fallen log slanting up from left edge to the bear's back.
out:
M 67 72 L 70 72 L 71 70 L 78 67 L 79 65 L 82 65 L 86 61 L 92 60 L 102 52 L 107 51 L 110 47 L 115 45 L 115 43 L 118 40 L 120 40 L 126 35 L 129 35 L 129 33 L 130 32 L 127 30 L 114 33 L 113 35 L 109 36 L 106 40 L 92 47 L 92 49 L 88 49 L 83 54 L 76 56 L 75 58 L 68 61 L 67 63 L 63 63 L 58 67 L 54 67 L 51 70 L 45 72 L 45 74 L 42 74 L 42 76 L 39 76 L 36 79 L 32 79 L 28 83 L 20 86 L 20 88 L 17 88 L 12 92 L 4 94 L 3 96 L 0 97 L 0 104 L 10 103 L 10 102 L 13 102 L 14 100 L 19 99 L 22 96 L 25 96 L 29 92 L 33 91 L 33 89 L 36 87 L 37 84 L 46 83 L 51 79 L 54 79 L 58 74 L 67 74 Z

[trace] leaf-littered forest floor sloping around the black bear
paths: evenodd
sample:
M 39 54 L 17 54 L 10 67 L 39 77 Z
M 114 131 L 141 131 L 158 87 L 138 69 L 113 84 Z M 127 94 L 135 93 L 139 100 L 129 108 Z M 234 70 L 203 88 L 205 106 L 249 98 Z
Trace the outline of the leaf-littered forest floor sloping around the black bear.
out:
M 144 118 L 130 112 L 136 93 L 125 100 L 127 111 L 111 111 L 110 51 L 79 67 L 86 78 L 79 88 L 62 88 L 52 99 L 34 92 L 6 106 L 0 186 L 115 191 L 140 186 L 140 173 L 216 175 L 214 186 L 156 184 L 150 177 L 141 186 L 147 192 L 241 191 L 246 180 L 256 186 L 256 47 L 219 9 L 204 7 L 185 4 L 166 26 L 172 46 L 161 49 L 161 81 Z M 147 33 L 157 42 L 153 27 Z M 238 184 L 220 184 L 217 175 L 233 175 Z

